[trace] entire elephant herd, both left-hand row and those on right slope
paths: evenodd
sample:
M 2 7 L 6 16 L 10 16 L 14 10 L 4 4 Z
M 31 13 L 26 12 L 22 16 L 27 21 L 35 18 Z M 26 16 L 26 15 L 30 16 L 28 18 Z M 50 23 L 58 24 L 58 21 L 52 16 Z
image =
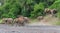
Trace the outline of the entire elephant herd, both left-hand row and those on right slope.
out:
M 44 10 L 44 13 L 46 15 L 51 14 L 52 16 L 54 16 L 57 13 L 57 10 L 56 9 L 48 9 L 48 8 L 46 8 Z M 44 18 L 44 16 L 38 16 L 37 17 L 38 20 L 42 20 L 43 18 Z M 12 19 L 12 18 L 3 18 L 2 19 L 2 22 L 4 24 L 12 24 L 12 25 L 17 24 L 19 26 L 20 25 L 24 26 L 26 23 L 29 23 L 30 22 L 30 18 L 24 17 L 24 16 L 18 16 L 15 19 Z

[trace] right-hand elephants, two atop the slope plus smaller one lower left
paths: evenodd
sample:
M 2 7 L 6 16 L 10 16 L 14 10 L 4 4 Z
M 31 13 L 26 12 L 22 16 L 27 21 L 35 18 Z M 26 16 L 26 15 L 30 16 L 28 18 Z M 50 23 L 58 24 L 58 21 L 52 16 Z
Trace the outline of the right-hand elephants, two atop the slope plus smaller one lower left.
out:
M 56 17 L 56 13 L 57 13 L 57 10 L 56 9 L 49 9 L 49 8 L 45 8 L 44 12 L 43 12 L 45 15 L 52 15 L 54 17 Z M 37 20 L 42 20 L 44 19 L 44 16 L 38 16 L 37 17 Z

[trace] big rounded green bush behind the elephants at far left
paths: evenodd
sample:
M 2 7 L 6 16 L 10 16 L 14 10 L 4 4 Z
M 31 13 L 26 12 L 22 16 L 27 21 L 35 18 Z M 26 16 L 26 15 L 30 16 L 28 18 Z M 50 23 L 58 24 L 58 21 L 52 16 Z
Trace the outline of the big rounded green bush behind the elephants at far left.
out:
M 17 4 L 16 2 L 15 2 L 16 0 L 14 0 L 14 1 L 12 1 L 12 0 L 8 0 L 8 1 L 6 1 L 6 3 L 1 7 L 2 9 L 1 9 L 1 13 L 2 13 L 2 15 L 1 15 L 1 17 L 3 18 L 3 17 L 10 17 L 10 18 L 15 18 L 16 16 L 17 16 L 17 14 L 18 14 L 18 12 L 19 12 L 19 8 L 20 8 L 20 6 L 19 6 L 19 4 Z

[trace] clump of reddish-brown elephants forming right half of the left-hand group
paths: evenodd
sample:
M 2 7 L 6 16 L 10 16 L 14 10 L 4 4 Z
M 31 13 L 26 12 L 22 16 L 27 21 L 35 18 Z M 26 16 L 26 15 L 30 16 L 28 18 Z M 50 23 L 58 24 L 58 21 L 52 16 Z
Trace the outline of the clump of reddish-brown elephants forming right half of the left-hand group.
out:
M 20 16 L 14 19 L 14 23 L 16 23 L 19 26 L 24 26 L 26 23 L 29 23 L 29 19 L 27 17 Z

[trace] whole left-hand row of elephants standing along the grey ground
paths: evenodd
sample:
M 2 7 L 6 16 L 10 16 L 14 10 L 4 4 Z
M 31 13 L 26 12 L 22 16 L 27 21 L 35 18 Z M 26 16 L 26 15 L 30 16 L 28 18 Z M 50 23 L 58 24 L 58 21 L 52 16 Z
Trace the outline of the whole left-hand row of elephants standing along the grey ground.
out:
M 26 23 L 29 23 L 28 17 L 19 16 L 18 18 L 3 18 L 2 19 L 3 24 L 17 24 L 19 26 L 24 26 Z

